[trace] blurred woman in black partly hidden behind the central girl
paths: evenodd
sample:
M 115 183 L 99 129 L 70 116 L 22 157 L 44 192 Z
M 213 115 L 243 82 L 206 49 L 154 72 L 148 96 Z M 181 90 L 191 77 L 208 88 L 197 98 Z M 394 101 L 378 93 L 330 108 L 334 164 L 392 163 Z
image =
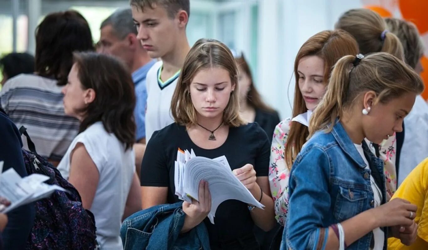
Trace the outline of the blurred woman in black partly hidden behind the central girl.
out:
M 238 57 L 235 56 L 235 60 L 238 64 L 239 72 L 239 108 L 241 117 L 247 122 L 259 123 L 272 142 L 275 126 L 281 121 L 278 112 L 263 102 L 262 96 L 260 96 L 259 91 L 254 86 L 250 66 L 245 60 L 244 54 L 241 53 Z

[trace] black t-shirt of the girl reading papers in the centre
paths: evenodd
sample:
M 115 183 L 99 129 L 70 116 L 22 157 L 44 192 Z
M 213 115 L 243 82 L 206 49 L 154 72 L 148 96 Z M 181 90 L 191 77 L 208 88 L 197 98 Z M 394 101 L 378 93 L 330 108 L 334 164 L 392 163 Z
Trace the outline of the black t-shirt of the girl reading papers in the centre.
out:
M 175 195 L 174 162 L 177 150 L 193 149 L 196 156 L 214 159 L 226 156 L 231 169 L 247 163 L 254 166 L 257 176 L 268 176 L 270 142 L 257 123 L 230 128 L 226 141 L 218 148 L 203 149 L 195 145 L 184 126 L 173 123 L 156 131 L 149 140 L 141 166 L 141 186 L 168 187 L 168 203 L 180 201 Z M 259 197 L 256 197 L 259 199 Z M 254 222 L 247 204 L 227 200 L 218 206 L 214 225 L 205 218 L 210 244 L 228 242 L 253 234 Z

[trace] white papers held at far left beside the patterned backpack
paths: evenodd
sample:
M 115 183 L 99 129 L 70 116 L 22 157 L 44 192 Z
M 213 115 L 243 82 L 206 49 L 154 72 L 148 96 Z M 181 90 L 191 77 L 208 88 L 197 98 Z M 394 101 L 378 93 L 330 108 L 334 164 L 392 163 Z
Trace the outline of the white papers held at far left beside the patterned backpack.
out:
M 33 201 L 49 197 L 55 190 L 66 191 L 58 185 L 44 183 L 49 177 L 43 174 L 31 174 L 22 178 L 15 169 L 3 171 L 3 162 L 0 162 L 0 196 L 11 202 L 3 213 Z

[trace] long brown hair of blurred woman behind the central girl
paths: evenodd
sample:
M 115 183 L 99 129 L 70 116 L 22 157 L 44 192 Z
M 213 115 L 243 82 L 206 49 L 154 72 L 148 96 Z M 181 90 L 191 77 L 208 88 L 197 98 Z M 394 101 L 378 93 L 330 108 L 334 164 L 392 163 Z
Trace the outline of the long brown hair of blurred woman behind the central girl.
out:
M 264 110 L 267 112 L 275 112 L 273 108 L 270 108 L 265 102 L 263 102 L 262 96 L 260 96 L 259 91 L 257 91 L 256 87 L 254 86 L 253 81 L 253 74 L 251 74 L 250 66 L 247 63 L 247 60 L 245 60 L 244 54 L 241 54 L 241 56 L 235 58 L 236 63 L 238 64 L 238 67 L 240 66 L 245 74 L 250 78 L 250 91 L 247 93 L 247 103 L 251 107 L 255 109 Z

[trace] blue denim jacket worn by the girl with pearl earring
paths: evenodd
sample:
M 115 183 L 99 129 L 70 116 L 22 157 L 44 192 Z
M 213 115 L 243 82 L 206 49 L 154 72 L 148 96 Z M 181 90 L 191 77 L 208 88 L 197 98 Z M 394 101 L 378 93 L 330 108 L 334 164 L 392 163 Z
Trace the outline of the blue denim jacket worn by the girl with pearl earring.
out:
M 340 122 L 336 122 L 329 133 L 316 132 L 303 147 L 290 174 L 286 222 L 288 248 L 325 249 L 331 224 L 373 208 L 370 174 L 382 191 L 381 203 L 386 202 L 383 161 L 375 157 L 364 141 L 363 150 L 370 169 L 365 169 L 363 158 Z M 321 228 L 326 230 L 320 236 Z M 385 250 L 388 230 L 382 230 Z M 368 250 L 372 237 L 370 232 L 347 249 Z

